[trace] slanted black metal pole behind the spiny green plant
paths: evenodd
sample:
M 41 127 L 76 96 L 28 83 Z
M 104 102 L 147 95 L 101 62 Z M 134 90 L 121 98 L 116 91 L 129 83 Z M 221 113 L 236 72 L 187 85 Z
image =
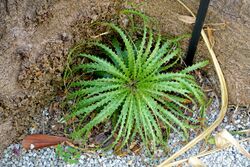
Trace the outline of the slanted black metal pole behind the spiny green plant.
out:
M 200 6 L 199 6 L 198 13 L 196 16 L 196 21 L 195 21 L 195 25 L 194 25 L 193 32 L 192 32 L 192 37 L 189 42 L 189 47 L 188 47 L 188 51 L 187 51 L 187 55 L 185 59 L 185 62 L 188 66 L 193 64 L 194 55 L 195 55 L 197 45 L 200 39 L 201 29 L 203 27 L 203 23 L 207 14 L 209 2 L 210 0 L 200 0 Z

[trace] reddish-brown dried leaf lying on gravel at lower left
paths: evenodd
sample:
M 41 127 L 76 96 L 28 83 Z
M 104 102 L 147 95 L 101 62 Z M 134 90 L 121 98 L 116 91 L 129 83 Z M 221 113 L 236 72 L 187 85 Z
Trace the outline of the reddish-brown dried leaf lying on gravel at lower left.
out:
M 34 134 L 26 136 L 22 141 L 22 145 L 27 150 L 39 149 L 39 148 L 54 146 L 62 142 L 65 142 L 67 140 L 68 139 L 66 137 Z

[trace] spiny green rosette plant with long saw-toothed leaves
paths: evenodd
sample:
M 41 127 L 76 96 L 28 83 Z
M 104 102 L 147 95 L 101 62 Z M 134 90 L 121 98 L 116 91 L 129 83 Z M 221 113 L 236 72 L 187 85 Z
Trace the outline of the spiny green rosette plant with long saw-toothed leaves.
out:
M 187 102 L 198 106 L 200 111 L 205 106 L 205 95 L 189 73 L 205 66 L 207 61 L 171 72 L 181 54 L 177 40 L 163 40 L 160 34 L 155 36 L 149 26 L 150 18 L 144 14 L 134 10 L 123 13 L 142 18 L 141 38 L 133 40 L 119 26 L 103 23 L 113 29 L 119 39 L 113 38 L 112 45 L 90 42 L 104 54 L 79 55 L 90 61 L 75 65 L 73 74 L 89 73 L 95 77 L 70 83 L 73 91 L 68 99 L 75 99 L 75 106 L 67 119 L 78 119 L 72 137 L 86 142 L 95 126 L 115 117 L 105 142 L 116 137 L 107 148 L 123 148 L 138 135 L 145 146 L 154 151 L 158 144 L 166 144 L 164 137 L 169 129 L 187 138 L 191 123 L 198 122 L 184 112 L 193 112 Z M 202 117 L 202 113 L 195 115 Z

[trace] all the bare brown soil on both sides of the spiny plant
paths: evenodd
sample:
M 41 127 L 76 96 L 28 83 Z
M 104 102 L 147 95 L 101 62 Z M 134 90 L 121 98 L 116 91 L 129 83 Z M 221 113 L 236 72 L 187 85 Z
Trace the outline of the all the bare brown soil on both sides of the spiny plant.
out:
M 184 1 L 196 11 L 197 1 Z M 62 72 L 68 50 L 100 33 L 91 23 L 115 20 L 117 11 L 127 6 L 114 0 L 0 1 L 0 152 L 22 139 L 41 115 L 41 108 L 63 95 Z M 214 49 L 232 104 L 250 103 L 249 7 L 250 2 L 244 0 L 213 0 L 206 20 L 206 24 L 227 22 L 225 29 L 214 32 Z M 192 31 L 192 25 L 178 20 L 180 14 L 188 13 L 176 0 L 149 0 L 139 8 L 157 18 L 167 35 Z M 185 48 L 188 40 L 183 44 Z M 201 41 L 197 59 L 204 58 L 209 55 Z M 208 72 L 218 89 L 212 66 Z

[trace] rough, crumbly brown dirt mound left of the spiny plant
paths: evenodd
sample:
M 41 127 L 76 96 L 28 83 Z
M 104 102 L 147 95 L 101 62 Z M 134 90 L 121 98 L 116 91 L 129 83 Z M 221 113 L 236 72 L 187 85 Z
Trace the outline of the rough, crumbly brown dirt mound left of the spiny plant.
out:
M 0 150 L 32 125 L 33 116 L 62 87 L 68 49 L 93 35 L 90 23 L 110 20 L 118 3 L 111 0 L 0 2 Z

